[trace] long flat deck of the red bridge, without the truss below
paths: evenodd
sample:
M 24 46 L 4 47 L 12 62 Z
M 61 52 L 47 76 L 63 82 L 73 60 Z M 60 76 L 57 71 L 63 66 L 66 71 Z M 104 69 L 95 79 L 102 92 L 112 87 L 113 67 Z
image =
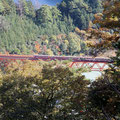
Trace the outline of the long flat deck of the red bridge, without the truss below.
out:
M 112 63 L 109 58 L 79 57 L 79 56 L 49 56 L 49 55 L 0 55 L 0 59 L 13 60 L 71 60 L 73 62 L 105 62 Z

